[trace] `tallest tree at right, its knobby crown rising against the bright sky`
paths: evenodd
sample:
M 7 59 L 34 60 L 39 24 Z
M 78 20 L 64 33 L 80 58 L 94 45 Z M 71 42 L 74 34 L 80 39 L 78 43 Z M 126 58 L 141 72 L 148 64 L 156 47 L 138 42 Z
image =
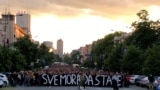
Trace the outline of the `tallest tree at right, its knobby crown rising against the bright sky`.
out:
M 137 13 L 139 21 L 132 24 L 134 32 L 126 39 L 127 45 L 136 45 L 143 50 L 151 47 L 153 43 L 157 42 L 160 33 L 157 33 L 160 23 L 148 19 L 148 12 L 141 10 Z

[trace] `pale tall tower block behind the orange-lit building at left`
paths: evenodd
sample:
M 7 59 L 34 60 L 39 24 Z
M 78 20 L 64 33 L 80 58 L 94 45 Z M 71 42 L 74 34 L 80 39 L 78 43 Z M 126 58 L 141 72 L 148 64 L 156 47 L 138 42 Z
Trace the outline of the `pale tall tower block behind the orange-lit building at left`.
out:
M 31 31 L 30 31 L 30 14 L 21 12 L 16 14 L 16 24 L 20 26 L 24 32 L 30 36 L 31 38 Z

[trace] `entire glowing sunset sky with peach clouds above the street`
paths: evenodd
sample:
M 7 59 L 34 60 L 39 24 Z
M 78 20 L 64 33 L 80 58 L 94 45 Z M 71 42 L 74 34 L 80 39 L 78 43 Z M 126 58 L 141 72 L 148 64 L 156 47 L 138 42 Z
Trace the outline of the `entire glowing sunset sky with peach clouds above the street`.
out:
M 31 14 L 33 39 L 51 41 L 55 49 L 62 39 L 65 53 L 115 31 L 131 32 L 142 9 L 150 19 L 160 18 L 159 0 L 0 0 L 0 13 L 6 7 L 12 14 Z

